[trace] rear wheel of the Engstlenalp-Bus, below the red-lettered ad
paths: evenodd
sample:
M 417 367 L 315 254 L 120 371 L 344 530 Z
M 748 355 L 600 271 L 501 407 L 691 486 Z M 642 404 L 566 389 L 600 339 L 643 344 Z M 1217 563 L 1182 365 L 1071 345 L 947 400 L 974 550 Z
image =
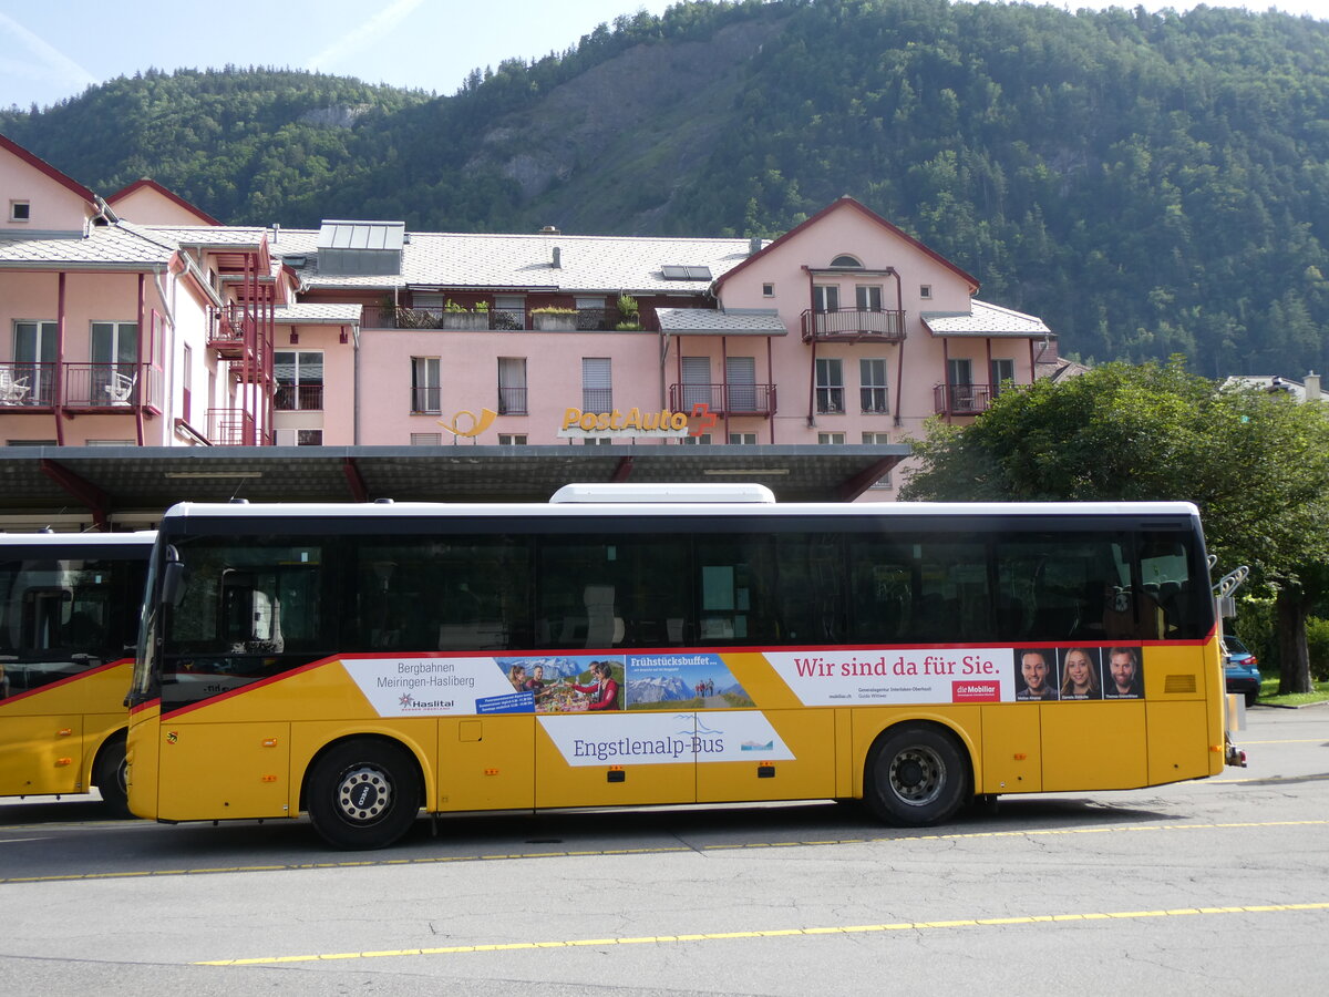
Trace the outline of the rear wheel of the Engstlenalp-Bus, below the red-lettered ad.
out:
M 921 723 L 884 732 L 868 752 L 863 779 L 868 808 L 897 827 L 937 824 L 971 795 L 964 748 L 950 734 Z

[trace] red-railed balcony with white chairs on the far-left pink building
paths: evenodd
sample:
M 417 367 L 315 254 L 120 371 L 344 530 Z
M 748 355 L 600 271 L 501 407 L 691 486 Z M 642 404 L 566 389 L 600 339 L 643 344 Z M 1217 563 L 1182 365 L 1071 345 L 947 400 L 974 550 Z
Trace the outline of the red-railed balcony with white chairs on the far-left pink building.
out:
M 146 363 L 0 364 L 0 407 L 7 409 L 161 412 L 163 386 L 162 370 Z

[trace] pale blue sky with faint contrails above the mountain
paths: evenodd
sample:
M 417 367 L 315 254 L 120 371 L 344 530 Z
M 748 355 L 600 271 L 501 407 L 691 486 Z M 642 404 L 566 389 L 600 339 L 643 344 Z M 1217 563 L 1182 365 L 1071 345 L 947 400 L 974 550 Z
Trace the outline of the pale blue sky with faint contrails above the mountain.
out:
M 1132 0 L 1049 0 L 1066 9 Z M 563 52 L 598 24 L 670 0 L 0 0 L 0 108 L 49 106 L 88 86 L 157 68 L 226 64 L 316 69 L 367 82 L 457 90 L 476 68 Z M 1185 11 L 1192 0 L 1140 0 Z M 1329 20 L 1329 0 L 1208 0 Z

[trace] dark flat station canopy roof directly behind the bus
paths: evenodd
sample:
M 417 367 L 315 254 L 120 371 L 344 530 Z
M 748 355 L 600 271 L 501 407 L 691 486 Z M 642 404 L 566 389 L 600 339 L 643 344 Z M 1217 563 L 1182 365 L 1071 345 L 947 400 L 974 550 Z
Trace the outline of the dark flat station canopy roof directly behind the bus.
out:
M 146 528 L 182 501 L 544 502 L 574 483 L 767 485 L 781 502 L 855 501 L 905 444 L 8 447 L 0 529 Z

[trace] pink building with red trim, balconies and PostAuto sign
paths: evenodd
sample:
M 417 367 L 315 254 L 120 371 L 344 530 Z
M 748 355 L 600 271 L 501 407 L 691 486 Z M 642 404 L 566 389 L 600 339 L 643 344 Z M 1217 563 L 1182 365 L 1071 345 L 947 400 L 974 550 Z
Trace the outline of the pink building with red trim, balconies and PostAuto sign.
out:
M 852 198 L 773 242 L 268 230 L 3 137 L 0 187 L 7 445 L 881 447 L 1055 356 Z

